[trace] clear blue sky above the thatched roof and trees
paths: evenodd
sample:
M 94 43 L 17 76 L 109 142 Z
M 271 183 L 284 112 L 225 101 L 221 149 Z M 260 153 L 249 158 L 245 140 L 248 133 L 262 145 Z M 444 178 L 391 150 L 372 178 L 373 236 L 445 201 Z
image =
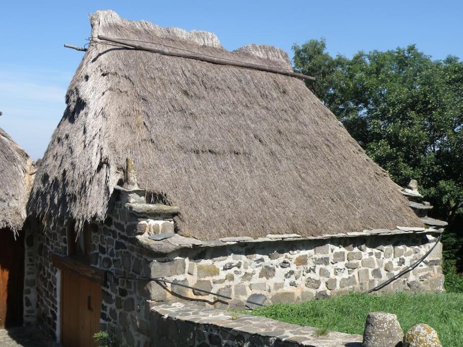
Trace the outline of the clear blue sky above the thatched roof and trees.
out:
M 460 1 L 7 1 L 0 4 L 0 127 L 34 159 L 65 109 L 66 88 L 90 35 L 88 14 L 112 9 L 217 34 L 229 50 L 257 43 L 285 49 L 324 37 L 331 54 L 415 43 L 435 59 L 463 57 Z

